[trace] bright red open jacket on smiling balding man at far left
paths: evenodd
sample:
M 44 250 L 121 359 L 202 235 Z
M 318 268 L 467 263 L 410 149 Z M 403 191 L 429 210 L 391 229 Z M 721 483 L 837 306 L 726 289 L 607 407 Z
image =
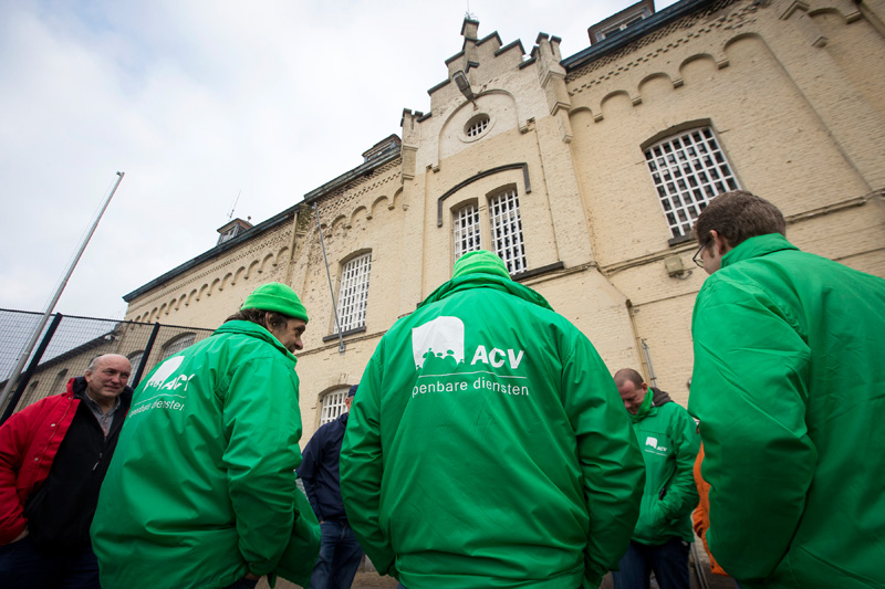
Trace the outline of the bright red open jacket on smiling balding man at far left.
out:
M 80 399 L 67 390 L 13 413 L 0 427 L 0 546 L 24 530 L 24 502 L 49 476 Z

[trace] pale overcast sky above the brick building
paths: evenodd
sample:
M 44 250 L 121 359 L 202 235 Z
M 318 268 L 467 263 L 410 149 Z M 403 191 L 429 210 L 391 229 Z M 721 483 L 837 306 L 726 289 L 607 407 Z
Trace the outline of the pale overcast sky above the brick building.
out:
M 480 38 L 563 56 L 629 0 L 470 0 Z M 662 10 L 671 0 L 657 3 Z M 43 311 L 126 176 L 55 311 L 122 296 L 362 164 L 427 112 L 468 2 L 0 0 L 0 307 Z

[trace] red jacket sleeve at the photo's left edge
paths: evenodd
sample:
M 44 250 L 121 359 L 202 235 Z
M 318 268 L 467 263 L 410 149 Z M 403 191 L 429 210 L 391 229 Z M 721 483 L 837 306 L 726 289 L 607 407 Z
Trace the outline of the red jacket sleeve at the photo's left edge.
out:
M 28 525 L 15 483 L 28 444 L 29 413 L 13 413 L 0 427 L 0 546 L 12 541 Z

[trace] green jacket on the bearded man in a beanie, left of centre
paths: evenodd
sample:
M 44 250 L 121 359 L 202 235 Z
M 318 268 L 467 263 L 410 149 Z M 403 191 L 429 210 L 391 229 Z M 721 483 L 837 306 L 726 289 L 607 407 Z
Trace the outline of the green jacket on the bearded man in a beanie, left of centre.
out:
M 295 357 L 249 322 L 142 381 L 92 525 L 102 587 L 225 587 L 274 571 L 299 515 L 298 386 Z

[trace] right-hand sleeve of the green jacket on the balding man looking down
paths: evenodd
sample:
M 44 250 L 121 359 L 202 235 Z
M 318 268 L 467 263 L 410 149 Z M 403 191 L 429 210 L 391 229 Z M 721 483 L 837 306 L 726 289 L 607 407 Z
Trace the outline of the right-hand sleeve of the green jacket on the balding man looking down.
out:
M 688 411 L 674 403 L 670 435 L 676 455 L 676 470 L 667 482 L 667 492 L 660 499 L 664 517 L 668 522 L 680 522 L 689 517 L 698 504 L 698 488 L 695 485 L 695 460 L 698 457 L 700 437 L 697 425 Z

